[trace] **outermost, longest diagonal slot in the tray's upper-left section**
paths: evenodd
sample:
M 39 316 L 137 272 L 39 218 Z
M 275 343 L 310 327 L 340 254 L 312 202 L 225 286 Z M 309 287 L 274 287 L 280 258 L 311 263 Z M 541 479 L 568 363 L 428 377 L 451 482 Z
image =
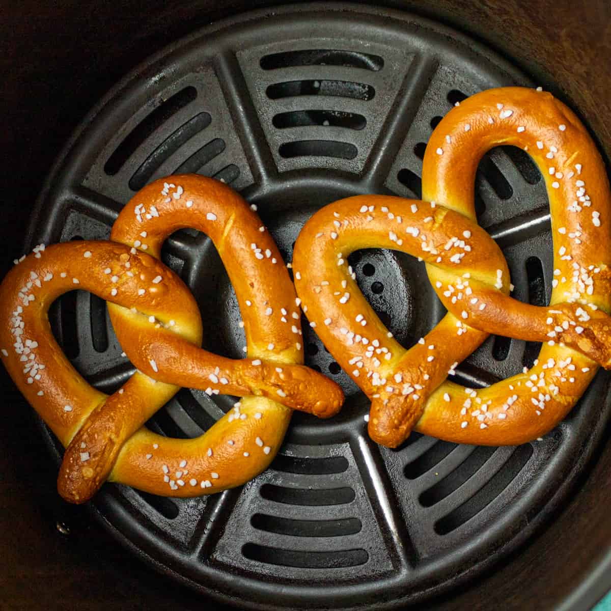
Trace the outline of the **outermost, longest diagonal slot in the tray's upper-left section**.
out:
M 123 167 L 123 164 L 136 152 L 142 143 L 158 130 L 172 115 L 191 103 L 197 97 L 195 87 L 185 87 L 160 104 L 153 112 L 148 114 L 115 148 L 114 153 L 104 164 L 104 172 L 114 176 Z

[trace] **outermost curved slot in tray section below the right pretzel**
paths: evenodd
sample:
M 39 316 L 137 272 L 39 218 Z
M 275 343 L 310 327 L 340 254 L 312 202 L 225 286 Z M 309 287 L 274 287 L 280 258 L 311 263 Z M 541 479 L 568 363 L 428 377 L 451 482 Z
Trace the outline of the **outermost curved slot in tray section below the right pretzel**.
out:
M 438 535 L 447 535 L 489 505 L 510 485 L 533 454 L 530 444 L 519 445 L 499 471 L 474 496 L 435 523 Z

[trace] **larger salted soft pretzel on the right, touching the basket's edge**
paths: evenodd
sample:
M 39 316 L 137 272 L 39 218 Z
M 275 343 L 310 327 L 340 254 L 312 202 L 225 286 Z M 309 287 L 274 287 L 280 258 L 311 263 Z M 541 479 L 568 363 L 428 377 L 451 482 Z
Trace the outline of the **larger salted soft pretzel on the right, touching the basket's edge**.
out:
M 551 207 L 550 305 L 516 301 L 507 262 L 477 225 L 475 172 L 496 145 L 527 150 Z M 298 295 L 321 340 L 371 398 L 370 436 L 396 447 L 412 428 L 448 441 L 521 444 L 551 430 L 598 368 L 611 367 L 611 202 L 604 164 L 576 115 L 549 93 L 478 93 L 434 130 L 423 200 L 357 196 L 305 224 L 295 246 Z M 360 293 L 346 260 L 384 247 L 421 257 L 448 313 L 406 350 Z M 448 375 L 489 333 L 544 342 L 535 365 L 474 390 Z

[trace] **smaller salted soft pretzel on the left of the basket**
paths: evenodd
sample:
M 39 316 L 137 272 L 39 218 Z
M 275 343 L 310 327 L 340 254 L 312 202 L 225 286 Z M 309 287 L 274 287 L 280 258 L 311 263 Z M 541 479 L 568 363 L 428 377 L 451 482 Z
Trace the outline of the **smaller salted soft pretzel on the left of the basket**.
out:
M 196 301 L 158 260 L 181 227 L 207 233 L 221 255 L 243 313 L 248 358 L 198 347 Z M 338 411 L 339 387 L 301 365 L 299 299 L 276 244 L 232 189 L 197 175 L 155 181 L 123 208 L 111 240 L 36 247 L 1 287 L 2 357 L 66 446 L 58 478 L 65 499 L 84 502 L 107 478 L 164 496 L 232 488 L 269 465 L 292 409 L 320 417 Z M 49 305 L 74 288 L 108 301 L 138 370 L 110 397 L 76 372 L 51 333 Z M 243 398 L 196 439 L 144 428 L 181 386 Z

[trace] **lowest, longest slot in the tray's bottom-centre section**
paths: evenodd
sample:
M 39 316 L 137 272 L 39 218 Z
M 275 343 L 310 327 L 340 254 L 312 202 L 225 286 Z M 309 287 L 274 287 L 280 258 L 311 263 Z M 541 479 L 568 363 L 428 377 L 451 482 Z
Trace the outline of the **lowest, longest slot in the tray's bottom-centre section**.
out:
M 291 549 L 246 543 L 242 554 L 249 560 L 268 565 L 296 566 L 308 569 L 334 569 L 342 566 L 364 565 L 369 555 L 364 549 L 346 549 L 338 552 L 296 552 Z

